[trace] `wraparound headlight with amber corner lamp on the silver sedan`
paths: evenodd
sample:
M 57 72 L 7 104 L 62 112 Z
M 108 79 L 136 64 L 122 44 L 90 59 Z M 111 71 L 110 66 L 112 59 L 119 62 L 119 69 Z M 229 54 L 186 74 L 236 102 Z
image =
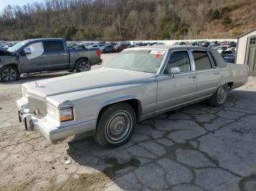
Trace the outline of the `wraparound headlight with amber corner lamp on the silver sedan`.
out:
M 56 120 L 59 120 L 60 122 L 74 119 L 72 107 L 62 106 L 61 108 L 57 108 L 56 106 L 47 104 L 47 113 Z

